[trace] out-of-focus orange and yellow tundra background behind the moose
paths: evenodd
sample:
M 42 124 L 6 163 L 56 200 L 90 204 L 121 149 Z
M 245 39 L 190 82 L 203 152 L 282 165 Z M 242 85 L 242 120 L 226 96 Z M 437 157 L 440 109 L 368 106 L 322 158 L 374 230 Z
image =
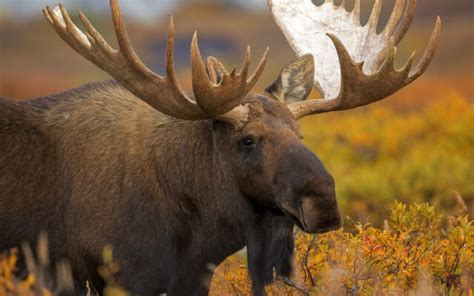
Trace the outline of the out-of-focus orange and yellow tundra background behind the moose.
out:
M 266 46 L 271 53 L 256 91 L 295 58 L 273 22 L 265 0 L 121 1 L 132 43 L 144 62 L 163 73 L 167 13 L 177 30 L 176 67 L 190 87 L 189 44 L 199 32 L 203 56 L 230 68 L 240 64 L 247 44 L 254 63 Z M 320 3 L 322 0 L 314 1 Z M 341 1 L 335 1 L 340 3 Z M 346 1 L 353 7 L 354 1 Z M 363 2 L 363 22 L 373 0 Z M 64 0 L 76 23 L 81 8 L 115 45 L 108 1 Z M 43 19 L 53 0 L 0 0 L 0 96 L 45 96 L 109 76 L 76 54 Z M 394 0 L 383 5 L 382 27 Z M 443 21 L 441 44 L 420 79 L 373 106 L 304 119 L 306 144 L 337 183 L 342 211 L 351 220 L 383 223 L 395 201 L 430 202 L 442 211 L 474 203 L 474 1 L 419 0 L 415 21 L 402 41 L 401 65 L 428 43 L 436 16 Z M 317 66 L 317 65 L 316 65 Z M 312 97 L 317 98 L 316 91 Z

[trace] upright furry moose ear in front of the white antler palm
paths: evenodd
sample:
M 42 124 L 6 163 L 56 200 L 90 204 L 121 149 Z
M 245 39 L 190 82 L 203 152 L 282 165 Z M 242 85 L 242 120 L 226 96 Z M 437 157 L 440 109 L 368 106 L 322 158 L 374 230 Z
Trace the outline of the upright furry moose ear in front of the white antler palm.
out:
M 286 65 L 278 78 L 265 90 L 284 103 L 306 99 L 313 87 L 314 58 L 305 54 Z

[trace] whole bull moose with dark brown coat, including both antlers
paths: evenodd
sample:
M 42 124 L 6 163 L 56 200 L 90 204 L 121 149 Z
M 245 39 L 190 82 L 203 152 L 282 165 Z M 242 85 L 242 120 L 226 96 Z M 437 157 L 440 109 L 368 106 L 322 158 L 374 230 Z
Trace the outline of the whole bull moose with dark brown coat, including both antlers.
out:
M 114 80 L 30 100 L 0 98 L 0 250 L 49 236 L 52 261 L 66 258 L 76 288 L 99 292 L 101 254 L 111 245 L 117 281 L 140 295 L 207 295 L 214 268 L 246 247 L 254 295 L 292 273 L 295 225 L 308 233 L 341 227 L 335 182 L 306 148 L 297 120 L 382 100 L 425 72 L 438 18 L 419 65 L 395 69 L 396 46 L 415 0 L 396 1 L 381 33 L 382 1 L 360 23 L 330 0 L 268 0 L 298 58 L 264 94 L 249 75 L 204 62 L 191 43 L 192 93 L 178 84 L 170 15 L 166 74 L 142 63 L 118 0 L 110 0 L 118 49 L 79 12 L 43 13 L 57 34 Z M 314 86 L 322 99 L 307 99 Z

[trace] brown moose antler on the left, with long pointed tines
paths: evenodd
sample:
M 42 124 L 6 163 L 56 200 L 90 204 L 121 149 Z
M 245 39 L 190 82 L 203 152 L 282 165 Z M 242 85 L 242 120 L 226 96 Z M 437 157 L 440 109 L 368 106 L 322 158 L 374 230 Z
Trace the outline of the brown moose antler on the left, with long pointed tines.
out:
M 204 67 L 199 51 L 197 34 L 191 44 L 192 82 L 195 101 L 181 90 L 174 70 L 174 23 L 168 21 L 168 43 L 166 48 L 166 76 L 151 71 L 133 50 L 125 30 L 124 19 L 118 0 L 110 0 L 112 20 L 119 49 L 113 49 L 79 11 L 79 17 L 87 32 L 83 33 L 71 20 L 66 9 L 59 6 L 43 10 L 46 19 L 59 36 L 83 57 L 114 77 L 135 96 L 158 111 L 176 118 L 200 120 L 215 117 L 238 117 L 242 119 L 241 100 L 260 77 L 268 56 L 265 51 L 255 72 L 247 79 L 250 64 L 250 49 L 237 73 L 224 74 L 220 83 L 213 83 Z M 236 108 L 237 107 L 237 108 Z

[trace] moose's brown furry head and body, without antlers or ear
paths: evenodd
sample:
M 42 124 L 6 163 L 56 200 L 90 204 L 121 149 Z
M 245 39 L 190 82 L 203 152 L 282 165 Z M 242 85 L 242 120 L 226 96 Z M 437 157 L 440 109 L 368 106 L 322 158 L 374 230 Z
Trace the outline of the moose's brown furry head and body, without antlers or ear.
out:
M 247 246 L 262 295 L 274 270 L 291 274 L 294 223 L 322 232 L 340 218 L 334 181 L 286 105 L 255 94 L 243 103 L 249 118 L 236 128 L 167 117 L 114 82 L 0 98 L 0 249 L 45 230 L 52 259 L 100 289 L 110 244 L 133 293 L 197 295 L 213 266 Z

